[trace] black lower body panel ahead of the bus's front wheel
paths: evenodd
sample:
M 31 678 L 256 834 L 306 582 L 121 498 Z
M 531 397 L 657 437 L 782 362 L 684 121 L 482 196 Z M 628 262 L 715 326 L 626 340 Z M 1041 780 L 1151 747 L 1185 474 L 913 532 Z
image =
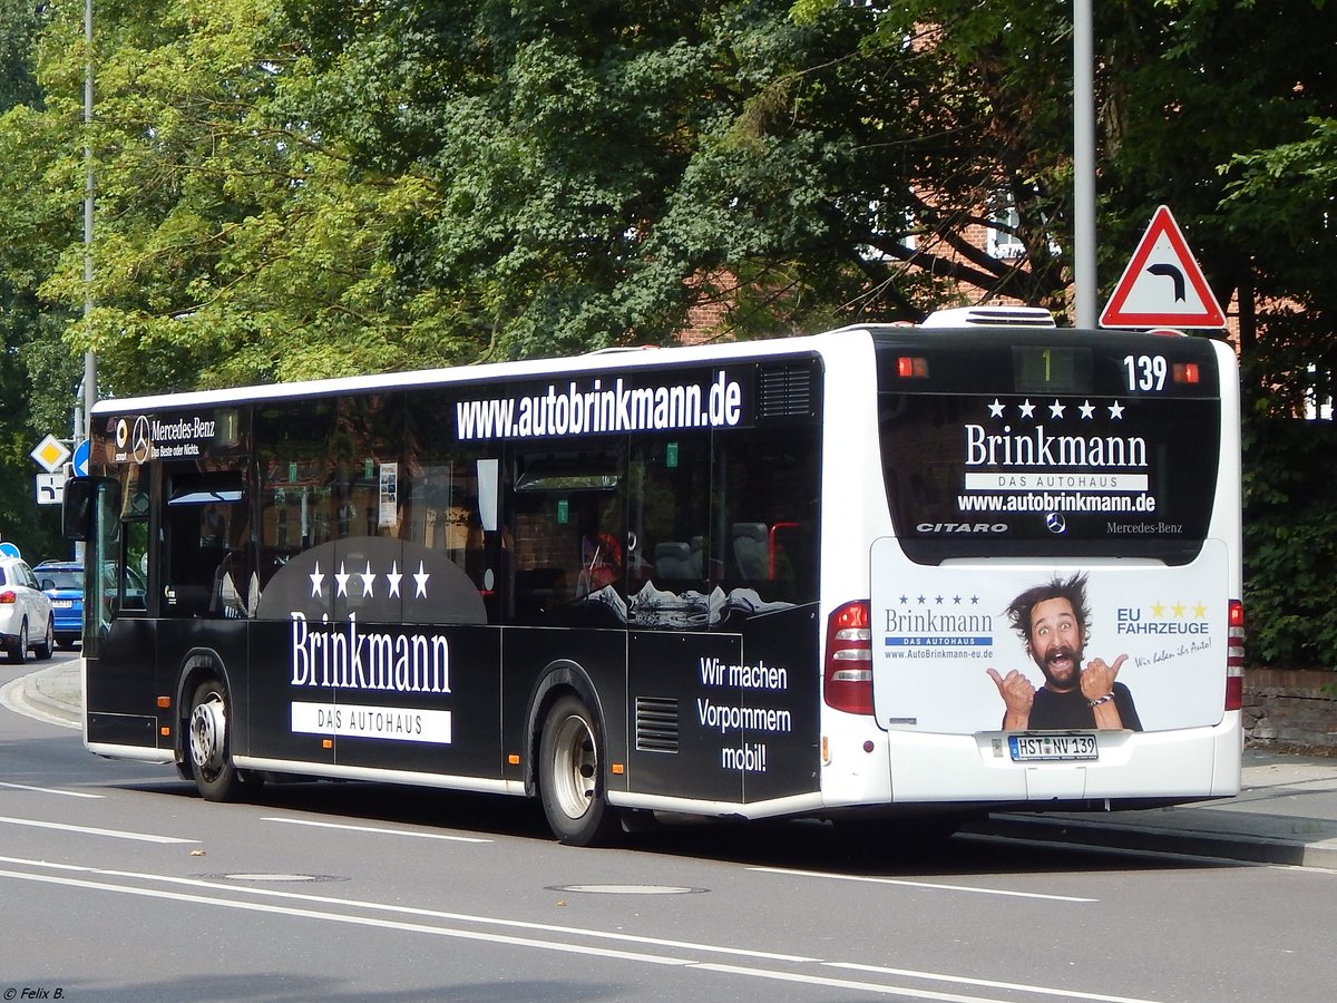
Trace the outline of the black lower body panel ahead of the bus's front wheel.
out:
M 111 625 L 88 658 L 84 671 L 84 718 L 92 745 L 154 749 L 159 725 L 154 686 L 155 634 L 151 621 L 122 619 Z M 164 722 L 170 723 L 170 722 Z M 163 745 L 171 738 L 163 740 Z

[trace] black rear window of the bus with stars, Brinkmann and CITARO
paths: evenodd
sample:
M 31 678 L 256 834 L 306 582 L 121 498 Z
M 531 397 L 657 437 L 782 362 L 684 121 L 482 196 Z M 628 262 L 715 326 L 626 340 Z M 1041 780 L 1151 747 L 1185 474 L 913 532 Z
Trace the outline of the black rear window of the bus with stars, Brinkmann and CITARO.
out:
M 1210 346 L 1165 340 L 1151 358 L 1139 356 L 1140 338 L 1086 337 L 920 345 L 927 380 L 898 378 L 904 368 L 881 361 L 888 503 L 913 560 L 1075 556 L 1096 542 L 1110 555 L 1175 564 L 1197 555 L 1221 441 Z M 1191 382 L 1174 382 L 1190 368 Z

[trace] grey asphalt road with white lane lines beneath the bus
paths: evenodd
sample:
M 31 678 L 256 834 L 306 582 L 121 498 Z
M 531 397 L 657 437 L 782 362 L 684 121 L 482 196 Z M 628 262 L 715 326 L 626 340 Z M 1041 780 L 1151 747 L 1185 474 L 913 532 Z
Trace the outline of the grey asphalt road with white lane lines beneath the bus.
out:
M 1334 900 L 1316 868 L 813 822 L 574 849 L 390 786 L 207 804 L 0 709 L 5 999 L 1318 1000 Z

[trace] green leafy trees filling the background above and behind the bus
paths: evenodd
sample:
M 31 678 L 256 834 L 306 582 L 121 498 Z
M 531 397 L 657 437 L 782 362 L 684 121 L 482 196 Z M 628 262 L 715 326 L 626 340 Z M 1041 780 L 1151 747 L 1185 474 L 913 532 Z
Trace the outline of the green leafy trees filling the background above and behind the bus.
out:
M 138 395 L 1070 300 L 1068 0 L 99 0 L 91 126 L 82 16 L 0 0 L 3 534 L 41 539 L 27 451 L 88 348 Z M 1337 8 L 1094 17 L 1104 288 L 1167 203 L 1243 304 L 1250 421 L 1330 395 Z M 1021 259 L 979 247 L 1003 205 Z M 1250 523 L 1250 614 L 1328 663 L 1273 626 L 1289 560 L 1326 583 L 1294 448 L 1250 439 L 1286 527 Z

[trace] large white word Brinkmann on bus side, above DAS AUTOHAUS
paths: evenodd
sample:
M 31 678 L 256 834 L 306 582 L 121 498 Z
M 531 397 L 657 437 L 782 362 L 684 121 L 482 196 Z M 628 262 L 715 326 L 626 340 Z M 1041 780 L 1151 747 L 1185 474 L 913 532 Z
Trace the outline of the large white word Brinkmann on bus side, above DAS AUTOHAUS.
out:
M 451 650 L 444 637 L 364 634 L 357 614 L 349 614 L 348 623 L 322 618 L 310 627 L 302 614 L 291 617 L 293 686 L 451 691 Z

